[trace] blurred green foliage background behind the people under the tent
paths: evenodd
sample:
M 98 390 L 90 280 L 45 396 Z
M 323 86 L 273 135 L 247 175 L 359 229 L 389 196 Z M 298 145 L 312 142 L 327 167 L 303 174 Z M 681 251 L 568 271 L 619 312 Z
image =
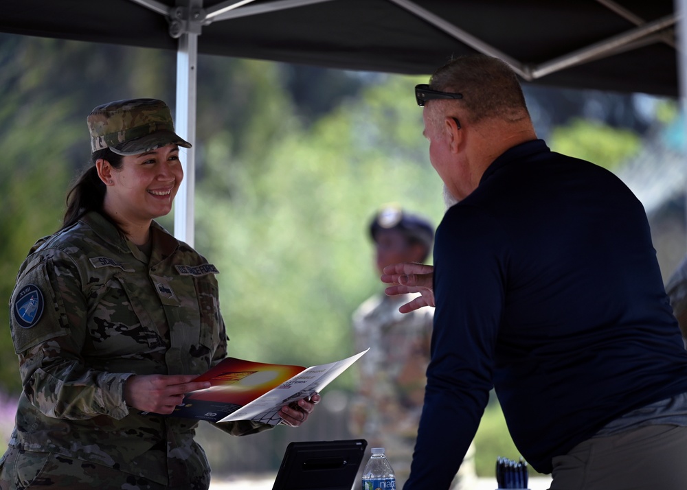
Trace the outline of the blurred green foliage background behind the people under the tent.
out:
M 165 100 L 173 113 L 175 66 L 168 51 L 0 34 L 5 325 L 19 264 L 58 229 L 67 188 L 87 162 L 87 114 L 131 97 Z M 427 77 L 205 55 L 197 76 L 195 247 L 221 271 L 229 355 L 304 366 L 352 355 L 350 314 L 381 290 L 366 235 L 373 213 L 387 202 L 435 224 L 443 213 L 412 95 Z M 649 98 L 648 110 L 636 95 L 525 90 L 552 149 L 614 171 L 677 113 L 671 100 Z M 160 221 L 173 229 L 172 215 Z M 0 329 L 0 394 L 20 389 L 10 332 Z M 204 425 L 200 437 L 218 474 L 255 459 L 264 464 L 254 471 L 273 470 L 291 440 L 346 437 L 354 389 L 352 368 L 327 388 L 307 430 L 237 441 Z M 492 476 L 495 456 L 517 454 L 496 401 L 484 420 L 477 467 Z

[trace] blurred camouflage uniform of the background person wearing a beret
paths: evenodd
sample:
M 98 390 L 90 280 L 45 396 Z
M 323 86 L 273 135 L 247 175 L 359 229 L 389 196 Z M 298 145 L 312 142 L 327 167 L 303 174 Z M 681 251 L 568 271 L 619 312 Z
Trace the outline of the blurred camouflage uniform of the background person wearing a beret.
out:
M 356 363 L 360 378 L 350 431 L 365 438 L 368 448 L 385 448 L 399 490 L 410 474 L 423 410 L 434 313 L 430 307 L 398 312 L 412 298 L 410 294 L 372 296 L 352 316 L 357 351 L 368 347 L 370 351 Z M 474 483 L 473 454 L 471 447 L 453 489 L 469 489 Z

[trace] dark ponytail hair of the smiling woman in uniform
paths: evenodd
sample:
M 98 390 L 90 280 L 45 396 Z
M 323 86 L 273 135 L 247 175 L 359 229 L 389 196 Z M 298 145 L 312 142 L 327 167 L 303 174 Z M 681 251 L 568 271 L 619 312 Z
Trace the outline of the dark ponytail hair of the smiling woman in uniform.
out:
M 103 211 L 106 186 L 98 176 L 98 169 L 95 162 L 98 159 L 106 160 L 110 166 L 118 169 L 122 167 L 122 155 L 116 154 L 109 148 L 98 150 L 91 155 L 89 166 L 76 180 L 67 192 L 67 211 L 62 222 L 62 228 L 76 223 L 80 218 L 90 211 L 97 211 L 111 221 Z

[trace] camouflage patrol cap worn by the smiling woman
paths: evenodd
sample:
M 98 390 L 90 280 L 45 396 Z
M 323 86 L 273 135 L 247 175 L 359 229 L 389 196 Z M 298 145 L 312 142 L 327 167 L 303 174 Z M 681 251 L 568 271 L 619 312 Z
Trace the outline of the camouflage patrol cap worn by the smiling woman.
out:
M 109 148 L 137 155 L 175 143 L 191 148 L 174 132 L 170 108 L 157 99 L 115 100 L 91 110 L 87 117 L 91 153 Z

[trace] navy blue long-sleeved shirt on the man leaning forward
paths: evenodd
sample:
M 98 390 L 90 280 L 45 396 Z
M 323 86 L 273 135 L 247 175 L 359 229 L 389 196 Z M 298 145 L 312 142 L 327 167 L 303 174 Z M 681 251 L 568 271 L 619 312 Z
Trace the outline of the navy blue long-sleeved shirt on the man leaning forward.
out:
M 449 487 L 492 387 L 518 450 L 543 473 L 616 417 L 687 392 L 646 213 L 602 167 L 541 140 L 511 148 L 444 215 L 434 265 L 432 360 L 406 488 Z

